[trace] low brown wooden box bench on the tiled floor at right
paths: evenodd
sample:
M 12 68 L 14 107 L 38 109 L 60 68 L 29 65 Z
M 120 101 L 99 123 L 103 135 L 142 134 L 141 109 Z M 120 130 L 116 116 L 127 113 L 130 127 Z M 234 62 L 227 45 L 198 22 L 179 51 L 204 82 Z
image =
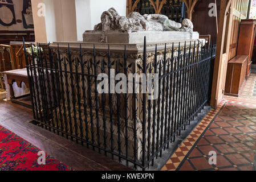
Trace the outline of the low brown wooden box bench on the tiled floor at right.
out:
M 239 90 L 246 79 L 247 55 L 235 56 L 227 64 L 225 95 L 238 97 Z

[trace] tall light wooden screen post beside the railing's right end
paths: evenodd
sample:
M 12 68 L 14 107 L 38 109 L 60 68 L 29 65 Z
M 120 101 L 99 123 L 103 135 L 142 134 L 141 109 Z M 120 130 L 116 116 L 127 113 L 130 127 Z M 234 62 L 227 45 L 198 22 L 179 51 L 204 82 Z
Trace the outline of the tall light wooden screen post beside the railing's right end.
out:
M 217 35 L 217 48 L 216 48 L 216 59 L 214 64 L 214 77 L 213 77 L 213 86 L 212 86 L 212 97 L 211 105 L 216 107 L 223 98 L 223 93 L 221 90 L 225 90 L 226 74 L 223 71 L 227 72 L 227 61 L 230 57 L 235 55 L 235 43 L 230 39 L 235 35 L 231 35 L 232 24 L 233 24 L 233 15 L 239 16 L 241 19 L 246 15 L 248 0 L 219 0 L 221 2 L 220 6 L 220 15 L 218 16 L 218 35 Z M 237 11 L 233 11 L 233 10 Z M 233 14 L 233 12 L 235 12 Z M 237 12 L 240 12 L 240 15 L 237 15 Z M 234 28 L 235 26 L 233 26 Z M 228 31 L 227 31 L 228 30 Z M 231 50 L 230 50 L 231 47 Z M 229 53 L 231 52 L 231 55 Z M 226 60 L 224 59 L 224 53 L 226 53 Z M 223 62 L 226 61 L 224 64 Z

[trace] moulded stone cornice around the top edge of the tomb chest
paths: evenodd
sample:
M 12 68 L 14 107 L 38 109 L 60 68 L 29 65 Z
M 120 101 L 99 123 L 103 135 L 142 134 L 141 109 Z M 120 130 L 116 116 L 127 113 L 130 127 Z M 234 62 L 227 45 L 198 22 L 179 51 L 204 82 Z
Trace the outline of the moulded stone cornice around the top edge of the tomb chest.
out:
M 186 48 L 185 48 L 186 42 Z M 174 52 L 178 51 L 178 45 L 180 44 L 180 51 L 183 52 L 184 48 L 186 51 L 189 50 L 191 42 L 191 48 L 198 48 L 198 45 L 204 46 L 206 44 L 205 39 L 190 39 L 190 40 L 179 40 L 176 42 L 161 42 L 161 43 L 147 43 L 147 56 L 151 57 L 155 55 L 155 49 L 157 46 L 157 55 L 162 55 L 164 53 L 164 48 L 166 44 L 166 53 L 172 52 L 172 45 L 174 47 Z M 80 44 L 84 55 L 93 55 L 94 45 L 96 50 L 96 56 L 108 57 L 108 47 L 111 53 L 111 58 L 124 58 L 124 49 L 126 47 L 128 59 L 139 59 L 143 55 L 144 44 L 117 44 L 117 43 L 84 43 L 84 42 L 54 42 L 50 45 L 54 52 L 57 51 L 58 46 L 60 52 L 64 55 L 68 53 L 68 45 L 70 46 L 71 55 L 78 56 L 80 54 Z

